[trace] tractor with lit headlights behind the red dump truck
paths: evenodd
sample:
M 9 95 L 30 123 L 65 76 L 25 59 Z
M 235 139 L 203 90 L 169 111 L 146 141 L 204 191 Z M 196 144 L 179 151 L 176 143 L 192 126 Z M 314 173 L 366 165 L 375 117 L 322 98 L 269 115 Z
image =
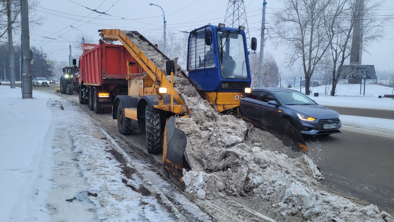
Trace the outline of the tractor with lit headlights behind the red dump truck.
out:
M 74 90 L 78 90 L 78 68 L 74 65 L 66 66 L 60 77 L 60 93 L 72 95 Z

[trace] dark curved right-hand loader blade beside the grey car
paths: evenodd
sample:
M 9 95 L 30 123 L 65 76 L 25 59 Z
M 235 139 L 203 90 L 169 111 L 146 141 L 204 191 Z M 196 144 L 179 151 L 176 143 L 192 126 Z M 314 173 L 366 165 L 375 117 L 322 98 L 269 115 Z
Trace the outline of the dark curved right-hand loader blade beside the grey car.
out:
M 301 134 L 286 119 L 272 112 L 265 112 L 261 122 L 250 120 L 246 117 L 242 119 L 260 130 L 266 130 L 275 135 L 282 143 L 292 151 L 308 154 L 308 148 Z

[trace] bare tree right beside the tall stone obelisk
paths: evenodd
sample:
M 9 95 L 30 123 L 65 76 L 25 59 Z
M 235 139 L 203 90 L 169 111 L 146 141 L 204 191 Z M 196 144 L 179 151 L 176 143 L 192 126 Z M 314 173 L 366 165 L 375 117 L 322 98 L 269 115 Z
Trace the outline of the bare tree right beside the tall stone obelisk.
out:
M 361 3 L 363 6 L 359 6 Z M 384 36 L 383 25 L 388 21 L 389 17 L 377 18 L 376 10 L 381 6 L 382 2 L 372 2 L 371 0 L 341 0 L 333 2 L 338 4 L 336 10 L 342 10 L 341 19 L 336 21 L 335 26 L 325 26 L 327 38 L 332 39 L 330 42 L 330 51 L 332 65 L 332 87 L 331 96 L 335 96 L 336 85 L 345 61 L 353 53 L 351 45 L 363 45 L 363 50 L 371 42 Z M 360 10 L 362 9 L 362 10 Z M 362 21 L 360 21 L 362 18 Z M 360 25 L 360 38 L 352 38 L 355 25 Z

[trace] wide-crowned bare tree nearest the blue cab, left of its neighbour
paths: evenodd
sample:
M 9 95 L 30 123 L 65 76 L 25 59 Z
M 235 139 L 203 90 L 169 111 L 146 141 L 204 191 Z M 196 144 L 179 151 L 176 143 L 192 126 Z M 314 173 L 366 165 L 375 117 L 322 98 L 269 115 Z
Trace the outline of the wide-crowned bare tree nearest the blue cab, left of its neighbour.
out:
M 272 28 L 276 45 L 287 44 L 286 65 L 292 67 L 301 59 L 305 74 L 305 94 L 310 94 L 310 79 L 332 40 L 325 27 L 334 26 L 341 10 L 330 14 L 330 0 L 282 0 L 284 9 L 275 11 Z M 328 16 L 329 15 L 329 16 Z M 332 28 L 330 28 L 332 30 Z

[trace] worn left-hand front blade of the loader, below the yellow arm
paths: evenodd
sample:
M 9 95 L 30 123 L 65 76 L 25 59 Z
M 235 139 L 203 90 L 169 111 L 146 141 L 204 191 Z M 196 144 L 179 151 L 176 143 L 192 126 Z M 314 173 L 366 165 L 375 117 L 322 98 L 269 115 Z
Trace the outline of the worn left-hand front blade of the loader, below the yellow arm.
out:
M 186 189 L 182 169 L 191 170 L 186 144 L 186 134 L 175 127 L 175 117 L 168 118 L 164 128 L 163 165 L 171 182 L 182 191 Z

